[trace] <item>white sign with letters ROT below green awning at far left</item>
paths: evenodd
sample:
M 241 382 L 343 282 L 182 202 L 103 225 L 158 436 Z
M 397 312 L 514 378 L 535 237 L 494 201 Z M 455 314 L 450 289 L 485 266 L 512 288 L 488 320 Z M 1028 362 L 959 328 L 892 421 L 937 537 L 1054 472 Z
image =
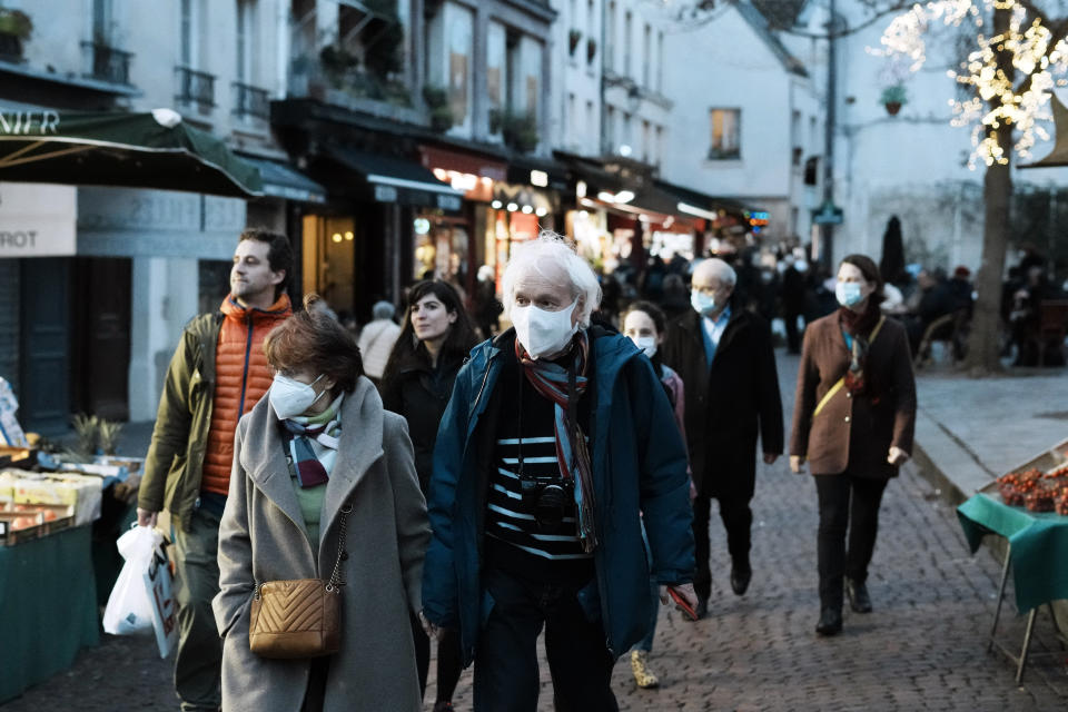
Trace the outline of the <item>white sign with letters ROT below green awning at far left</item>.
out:
M 0 258 L 73 255 L 77 206 L 73 186 L 0 182 Z

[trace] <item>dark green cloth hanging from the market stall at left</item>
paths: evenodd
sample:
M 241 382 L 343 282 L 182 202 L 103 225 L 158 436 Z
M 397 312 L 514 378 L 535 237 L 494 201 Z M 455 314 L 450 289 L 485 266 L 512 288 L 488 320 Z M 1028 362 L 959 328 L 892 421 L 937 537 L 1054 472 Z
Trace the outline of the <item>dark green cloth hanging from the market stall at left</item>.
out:
M 100 640 L 90 530 L 0 546 L 0 703 Z

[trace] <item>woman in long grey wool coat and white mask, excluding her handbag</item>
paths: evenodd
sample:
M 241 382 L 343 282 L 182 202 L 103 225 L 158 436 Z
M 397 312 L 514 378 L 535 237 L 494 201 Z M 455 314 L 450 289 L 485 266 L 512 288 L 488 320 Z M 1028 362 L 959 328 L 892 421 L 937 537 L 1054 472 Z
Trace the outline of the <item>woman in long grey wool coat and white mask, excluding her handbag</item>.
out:
M 275 382 L 238 424 L 219 528 L 222 709 L 417 712 L 409 616 L 422 609 L 431 530 L 407 426 L 383 409 L 360 375 L 355 339 L 328 316 L 295 314 L 264 349 Z M 253 653 L 254 587 L 328 580 L 345 503 L 339 652 L 305 660 Z

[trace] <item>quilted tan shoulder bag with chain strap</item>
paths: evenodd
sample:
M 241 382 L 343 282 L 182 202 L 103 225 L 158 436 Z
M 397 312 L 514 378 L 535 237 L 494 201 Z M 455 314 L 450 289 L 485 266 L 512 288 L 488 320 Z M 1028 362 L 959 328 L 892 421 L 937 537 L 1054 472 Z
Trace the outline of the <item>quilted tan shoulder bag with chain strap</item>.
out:
M 342 507 L 337 558 L 329 581 L 295 578 L 257 583 L 253 593 L 248 645 L 261 657 L 322 657 L 342 644 L 342 558 L 345 525 L 353 505 Z

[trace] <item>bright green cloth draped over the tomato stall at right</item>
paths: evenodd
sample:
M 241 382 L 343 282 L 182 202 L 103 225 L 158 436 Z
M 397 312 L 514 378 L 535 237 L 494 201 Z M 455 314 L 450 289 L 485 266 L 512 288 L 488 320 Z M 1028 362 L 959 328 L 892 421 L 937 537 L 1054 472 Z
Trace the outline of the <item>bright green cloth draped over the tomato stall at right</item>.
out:
M 985 494 L 957 507 L 957 516 L 972 554 L 985 534 L 992 532 L 1009 541 L 1020 613 L 1068 599 L 1068 516 L 1010 507 Z

